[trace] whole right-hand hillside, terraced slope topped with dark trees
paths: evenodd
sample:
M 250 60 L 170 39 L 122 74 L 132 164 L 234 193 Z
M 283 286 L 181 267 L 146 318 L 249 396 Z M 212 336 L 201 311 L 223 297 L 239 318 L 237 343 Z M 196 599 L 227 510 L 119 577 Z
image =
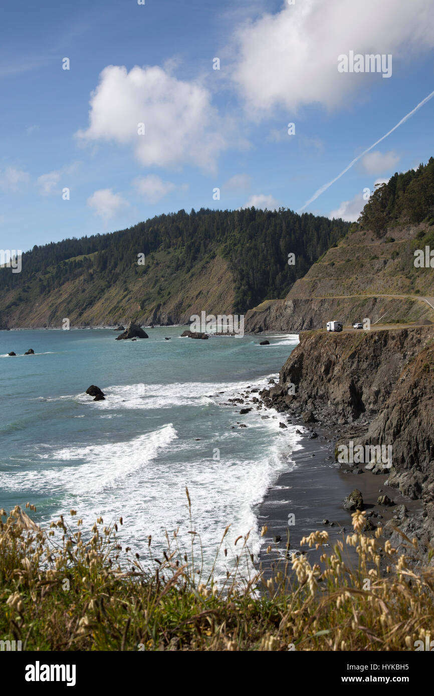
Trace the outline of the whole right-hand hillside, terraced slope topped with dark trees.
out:
M 352 324 L 364 317 L 371 323 L 433 321 L 433 269 L 414 265 L 414 251 L 426 247 L 434 249 L 434 159 L 375 191 L 359 224 L 296 280 L 285 299 L 248 313 L 247 330 L 320 329 L 329 319 Z

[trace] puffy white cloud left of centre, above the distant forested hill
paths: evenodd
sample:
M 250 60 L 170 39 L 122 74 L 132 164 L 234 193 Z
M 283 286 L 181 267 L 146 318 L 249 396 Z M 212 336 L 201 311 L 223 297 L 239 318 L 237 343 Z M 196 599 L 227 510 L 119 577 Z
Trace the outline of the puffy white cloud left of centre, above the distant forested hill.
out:
M 82 141 L 130 145 L 145 166 L 194 164 L 215 170 L 226 136 L 210 93 L 199 83 L 181 81 L 158 66 L 127 72 L 109 65 L 91 94 L 89 127 Z M 138 134 L 144 123 L 145 134 Z

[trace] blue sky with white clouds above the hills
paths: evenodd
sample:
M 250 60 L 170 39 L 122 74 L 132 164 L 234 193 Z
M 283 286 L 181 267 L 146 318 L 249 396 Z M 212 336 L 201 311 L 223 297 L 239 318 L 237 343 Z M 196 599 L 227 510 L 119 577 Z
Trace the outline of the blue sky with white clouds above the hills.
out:
M 22 0 L 0 27 L 3 249 L 180 208 L 300 209 L 434 90 L 426 0 Z M 350 51 L 392 55 L 391 77 L 339 72 Z M 433 116 L 434 99 L 307 211 L 356 219 L 364 189 L 434 155 Z

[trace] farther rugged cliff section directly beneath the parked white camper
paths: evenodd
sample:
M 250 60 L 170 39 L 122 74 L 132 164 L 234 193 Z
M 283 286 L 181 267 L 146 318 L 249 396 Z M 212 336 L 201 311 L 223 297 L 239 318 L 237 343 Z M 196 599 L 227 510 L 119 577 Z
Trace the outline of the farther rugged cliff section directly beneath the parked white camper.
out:
M 290 410 L 321 421 L 368 423 L 384 409 L 403 367 L 433 337 L 428 327 L 359 333 L 300 333 L 279 383 L 293 384 Z

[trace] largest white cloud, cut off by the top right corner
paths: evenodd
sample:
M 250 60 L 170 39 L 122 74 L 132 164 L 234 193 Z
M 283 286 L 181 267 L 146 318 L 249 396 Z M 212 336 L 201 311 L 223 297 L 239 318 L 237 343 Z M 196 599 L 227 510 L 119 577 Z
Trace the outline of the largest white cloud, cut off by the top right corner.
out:
M 434 13 L 426 0 L 303 0 L 243 25 L 233 42 L 232 78 L 252 118 L 276 106 L 334 109 L 366 81 L 387 83 L 380 74 L 339 73 L 339 55 L 353 50 L 408 62 L 434 47 Z

